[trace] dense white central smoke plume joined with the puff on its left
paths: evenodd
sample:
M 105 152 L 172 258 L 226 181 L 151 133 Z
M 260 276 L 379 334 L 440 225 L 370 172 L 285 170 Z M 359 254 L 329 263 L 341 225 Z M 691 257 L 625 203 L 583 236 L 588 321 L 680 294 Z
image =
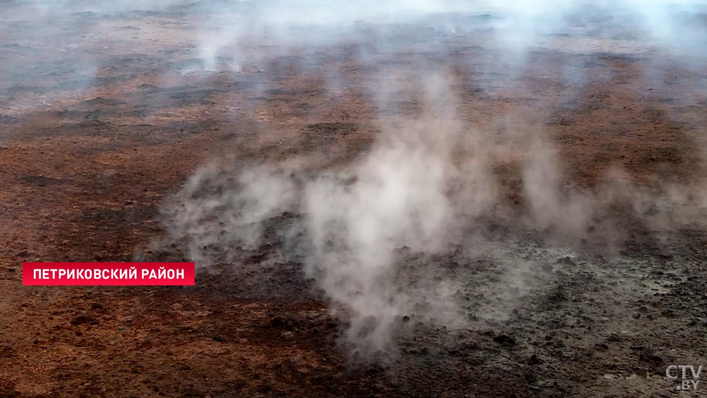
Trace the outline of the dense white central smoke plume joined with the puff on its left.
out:
M 281 249 L 303 256 L 308 276 L 345 314 L 349 342 L 360 353 L 390 349 L 395 324 L 406 315 L 452 324 L 455 281 L 423 275 L 411 289 L 400 279 L 399 253 L 447 252 L 462 216 L 492 209 L 497 189 L 478 134 L 450 111 L 443 79 L 430 78 L 426 87 L 428 112 L 387 125 L 345 170 L 202 168 L 165 206 L 168 233 L 204 266 L 235 259 L 223 252 L 257 248 L 272 218 L 297 214 L 281 233 Z M 305 242 L 293 241 L 301 235 Z

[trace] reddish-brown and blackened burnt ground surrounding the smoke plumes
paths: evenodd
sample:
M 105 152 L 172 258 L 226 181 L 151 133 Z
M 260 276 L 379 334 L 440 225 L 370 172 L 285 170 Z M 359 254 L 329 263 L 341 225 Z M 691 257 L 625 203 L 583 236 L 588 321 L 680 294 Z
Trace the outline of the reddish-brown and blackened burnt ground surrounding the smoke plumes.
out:
M 543 231 L 490 223 L 479 250 L 403 250 L 402 264 L 468 281 L 458 295 L 469 324 L 401 320 L 395 356 L 373 363 L 341 344 L 345 320 L 329 315 L 302 264 L 261 261 L 276 241 L 189 288 L 23 287 L 21 263 L 185 259 L 151 242 L 164 233 L 160 206 L 199 165 L 295 155 L 313 169 L 346 165 L 373 143 L 380 115 L 421 106 L 410 85 L 406 100 L 380 109 L 371 74 L 419 60 L 449 71 L 457 112 L 484 134 L 547 134 L 578 185 L 617 165 L 639 184 L 694 184 L 704 69 L 621 40 L 584 49 L 557 35 L 511 74 L 486 67 L 483 34 L 404 26 L 389 33 L 393 49 L 343 42 L 204 71 L 188 40 L 194 21 L 178 12 L 69 14 L 52 26 L 65 42 L 4 18 L 0 397 L 700 396 L 675 391 L 665 366 L 705 363 L 706 235 L 684 226 L 656 237 L 619 210 L 627 233 L 615 245 L 590 231 L 556 245 Z M 69 31 L 76 21 L 84 30 Z M 270 54 L 267 43 L 249 46 Z M 95 74 L 83 74 L 87 59 Z M 325 83 L 331 76 L 343 83 Z M 494 165 L 518 208 L 521 161 Z

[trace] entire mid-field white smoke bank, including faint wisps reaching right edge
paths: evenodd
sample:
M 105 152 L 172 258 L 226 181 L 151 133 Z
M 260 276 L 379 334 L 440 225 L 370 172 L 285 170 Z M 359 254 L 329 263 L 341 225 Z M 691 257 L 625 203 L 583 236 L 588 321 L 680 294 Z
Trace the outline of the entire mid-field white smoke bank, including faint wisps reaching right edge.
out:
M 612 220 L 619 205 L 651 230 L 707 225 L 704 196 L 684 185 L 641 187 L 619 171 L 592 189 L 568 184 L 556 148 L 532 128 L 508 137 L 525 158 L 525 217 L 518 217 L 493 172 L 508 156 L 508 141 L 456 114 L 448 78 L 421 81 L 426 98 L 419 117 L 382 121 L 373 147 L 342 170 L 305 170 L 298 162 L 199 170 L 165 206 L 172 240 L 202 267 L 238 264 L 239 253 L 275 243 L 269 255 L 301 261 L 348 325 L 347 341 L 371 354 L 395 349 L 403 317 L 448 327 L 466 322 L 455 298 L 464 281 L 434 278 L 404 262 L 443 255 L 456 244 L 483 245 L 481 235 L 469 232 L 475 227 L 549 230 L 563 241 L 587 238 L 595 228 L 620 245 L 626 231 Z M 275 240 L 268 228 L 277 229 Z

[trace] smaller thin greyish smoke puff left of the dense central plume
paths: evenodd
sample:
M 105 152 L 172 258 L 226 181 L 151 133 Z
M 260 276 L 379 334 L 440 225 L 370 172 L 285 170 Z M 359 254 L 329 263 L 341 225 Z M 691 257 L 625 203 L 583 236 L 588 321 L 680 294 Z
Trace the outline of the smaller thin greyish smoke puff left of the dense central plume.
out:
M 168 231 L 173 238 L 187 238 L 185 249 L 199 264 L 214 262 L 214 250 L 257 248 L 262 242 L 263 222 L 296 204 L 296 186 L 291 176 L 276 168 L 259 165 L 221 172 L 216 163 L 205 165 L 189 178 L 185 187 L 165 207 Z M 231 262 L 230 250 L 220 261 Z

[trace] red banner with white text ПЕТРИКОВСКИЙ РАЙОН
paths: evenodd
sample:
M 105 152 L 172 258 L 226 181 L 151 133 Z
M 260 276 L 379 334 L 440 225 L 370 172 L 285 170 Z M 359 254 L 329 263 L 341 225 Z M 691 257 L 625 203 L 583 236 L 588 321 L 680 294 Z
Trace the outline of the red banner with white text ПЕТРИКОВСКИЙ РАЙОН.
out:
M 24 286 L 194 286 L 193 262 L 25 262 Z

